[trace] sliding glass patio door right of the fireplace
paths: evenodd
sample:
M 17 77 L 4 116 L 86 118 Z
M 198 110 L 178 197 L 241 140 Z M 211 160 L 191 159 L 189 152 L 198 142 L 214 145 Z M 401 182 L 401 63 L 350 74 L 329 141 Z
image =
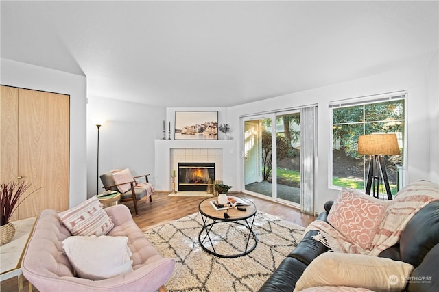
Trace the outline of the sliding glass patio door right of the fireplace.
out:
M 243 118 L 244 190 L 300 204 L 300 111 Z

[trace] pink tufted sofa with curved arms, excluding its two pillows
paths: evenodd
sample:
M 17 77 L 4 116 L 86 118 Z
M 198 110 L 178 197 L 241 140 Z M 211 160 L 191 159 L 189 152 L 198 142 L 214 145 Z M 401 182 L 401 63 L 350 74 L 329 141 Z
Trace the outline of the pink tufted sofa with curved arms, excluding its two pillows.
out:
M 107 235 L 128 237 L 132 269 L 128 274 L 104 280 L 75 277 L 62 241 L 71 236 L 58 211 L 40 213 L 23 256 L 23 275 L 39 291 L 156 291 L 165 290 L 165 282 L 174 272 L 174 258 L 163 258 L 132 220 L 128 207 L 104 209 L 115 224 Z

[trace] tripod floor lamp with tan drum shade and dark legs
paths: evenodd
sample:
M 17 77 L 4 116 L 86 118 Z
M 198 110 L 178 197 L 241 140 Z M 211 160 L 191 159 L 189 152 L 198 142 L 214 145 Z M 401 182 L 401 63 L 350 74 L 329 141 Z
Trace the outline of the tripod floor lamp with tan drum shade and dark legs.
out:
M 373 196 L 378 198 L 379 180 L 381 178 L 385 186 L 385 193 L 388 199 L 392 200 L 383 155 L 399 155 L 396 134 L 360 135 L 358 137 L 358 154 L 370 155 L 366 194 L 370 195 L 370 189 L 372 188 Z M 375 194 L 375 190 L 377 194 Z

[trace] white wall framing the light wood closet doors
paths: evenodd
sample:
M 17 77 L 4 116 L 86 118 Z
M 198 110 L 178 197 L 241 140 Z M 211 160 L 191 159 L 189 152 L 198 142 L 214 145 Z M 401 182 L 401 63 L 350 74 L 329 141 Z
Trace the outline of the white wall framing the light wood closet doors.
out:
M 2 85 L 70 95 L 69 207 L 86 200 L 86 77 L 1 58 Z

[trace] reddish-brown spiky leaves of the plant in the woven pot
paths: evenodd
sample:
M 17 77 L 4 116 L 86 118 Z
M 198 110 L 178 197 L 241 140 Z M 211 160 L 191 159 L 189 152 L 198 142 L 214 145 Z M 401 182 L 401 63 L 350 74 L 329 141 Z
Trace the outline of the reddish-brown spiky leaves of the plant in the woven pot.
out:
M 1 183 L 0 185 L 0 226 L 9 223 L 9 220 L 17 207 L 30 195 L 34 194 L 32 191 L 30 194 L 25 195 L 27 189 L 29 189 L 30 183 L 25 181 L 15 182 L 10 181 L 8 183 Z

